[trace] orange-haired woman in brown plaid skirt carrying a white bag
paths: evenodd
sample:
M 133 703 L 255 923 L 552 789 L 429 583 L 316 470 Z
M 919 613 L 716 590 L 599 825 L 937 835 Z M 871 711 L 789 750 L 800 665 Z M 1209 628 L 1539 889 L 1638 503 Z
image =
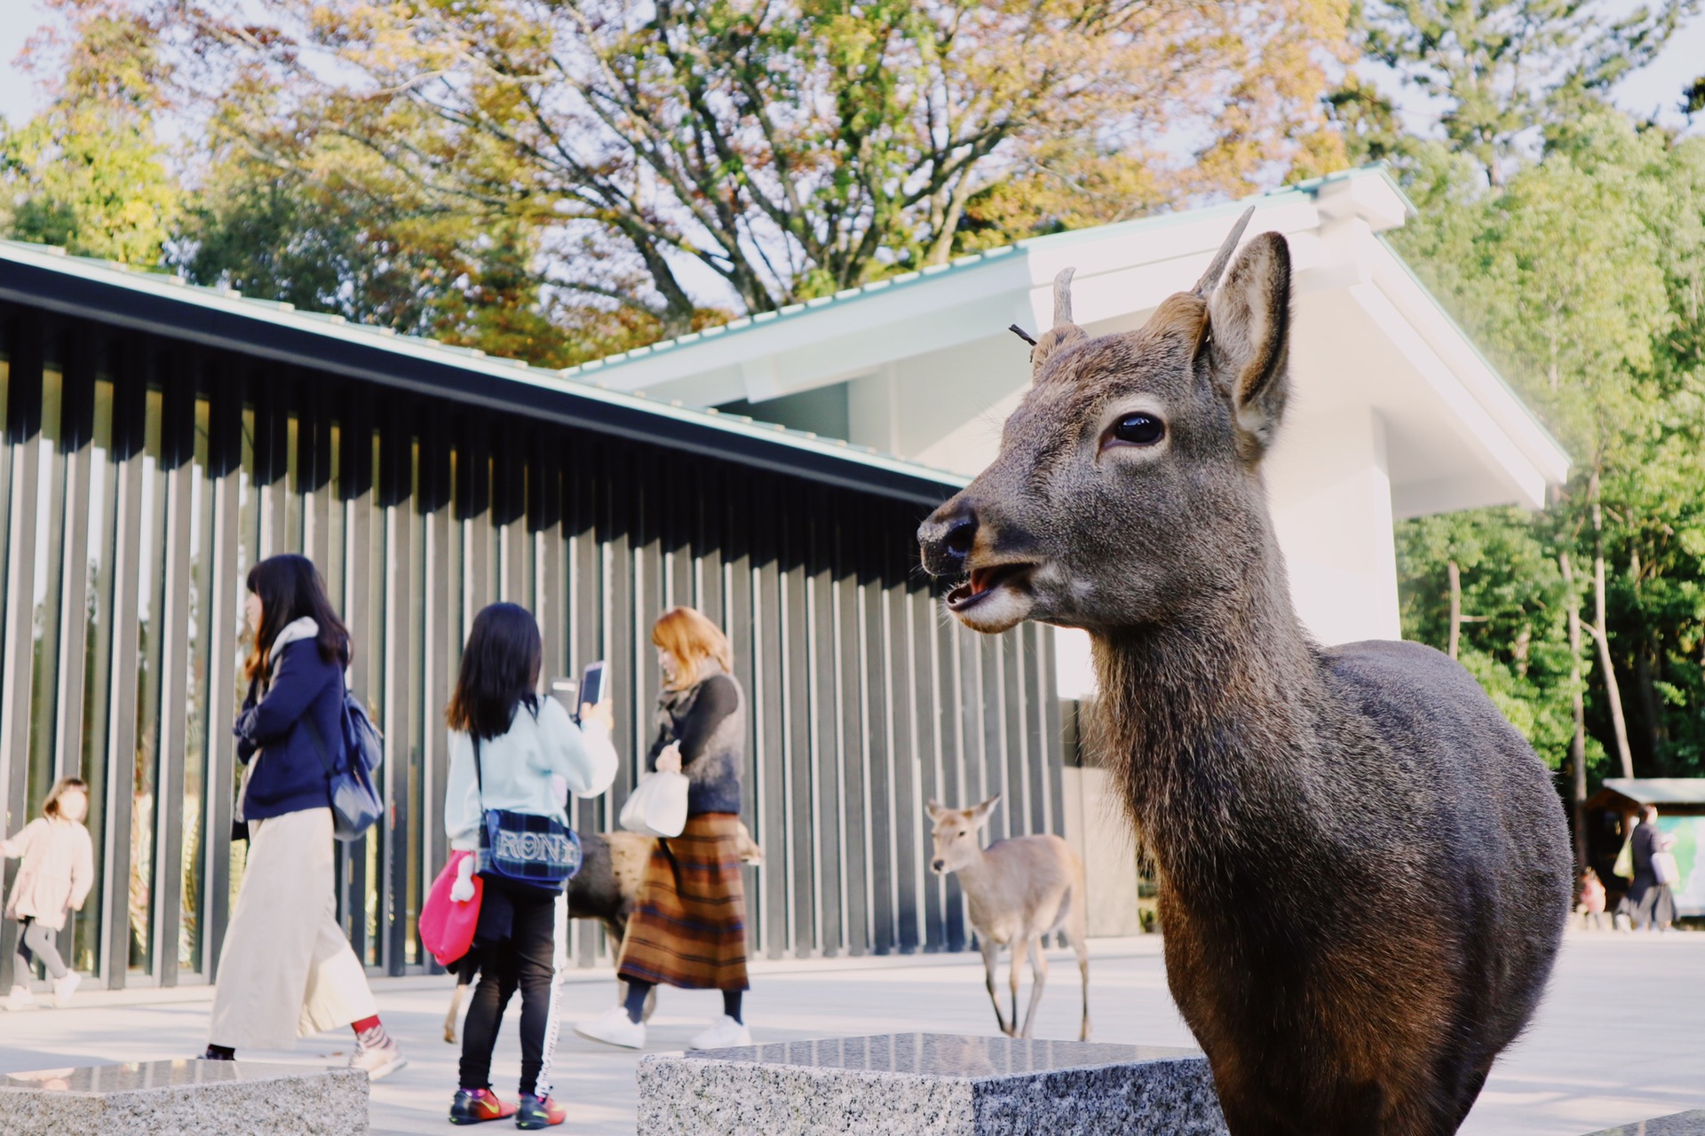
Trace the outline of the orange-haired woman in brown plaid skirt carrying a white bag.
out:
M 740 875 L 740 766 L 745 695 L 723 632 L 692 608 L 670 608 L 651 627 L 663 693 L 648 766 L 687 775 L 687 828 L 658 840 L 616 976 L 627 1001 L 575 1032 L 612 1046 L 644 1046 L 644 1000 L 656 984 L 720 990 L 723 1013 L 694 1049 L 750 1046 L 742 1015 L 747 990 L 745 881 Z

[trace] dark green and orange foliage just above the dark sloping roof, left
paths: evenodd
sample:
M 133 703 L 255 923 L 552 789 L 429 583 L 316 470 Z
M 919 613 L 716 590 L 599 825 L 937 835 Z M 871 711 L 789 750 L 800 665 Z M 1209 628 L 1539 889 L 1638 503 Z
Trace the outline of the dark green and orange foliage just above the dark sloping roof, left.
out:
M 213 135 L 203 148 L 170 257 L 194 283 L 537 366 L 660 336 L 643 312 L 552 288 L 537 227 L 457 209 L 348 138 L 280 131 L 261 146 Z

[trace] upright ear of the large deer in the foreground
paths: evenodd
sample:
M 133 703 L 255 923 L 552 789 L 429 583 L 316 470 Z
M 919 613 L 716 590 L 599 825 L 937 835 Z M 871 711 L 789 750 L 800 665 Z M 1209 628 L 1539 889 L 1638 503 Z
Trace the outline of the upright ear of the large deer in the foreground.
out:
M 1238 254 L 1207 301 L 1207 353 L 1214 382 L 1231 399 L 1238 450 L 1257 462 L 1272 445 L 1291 380 L 1291 249 L 1262 233 Z

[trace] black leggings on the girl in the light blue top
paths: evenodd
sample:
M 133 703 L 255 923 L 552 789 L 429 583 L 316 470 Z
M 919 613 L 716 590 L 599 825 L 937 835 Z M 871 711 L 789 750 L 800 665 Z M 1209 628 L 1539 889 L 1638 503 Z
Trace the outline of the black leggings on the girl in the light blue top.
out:
M 484 877 L 479 899 L 479 984 L 462 1022 L 462 1088 L 491 1088 L 491 1047 L 498 1044 L 503 1010 L 522 991 L 523 1093 L 539 1085 L 544 1029 L 551 1017 L 556 898 L 547 891 Z

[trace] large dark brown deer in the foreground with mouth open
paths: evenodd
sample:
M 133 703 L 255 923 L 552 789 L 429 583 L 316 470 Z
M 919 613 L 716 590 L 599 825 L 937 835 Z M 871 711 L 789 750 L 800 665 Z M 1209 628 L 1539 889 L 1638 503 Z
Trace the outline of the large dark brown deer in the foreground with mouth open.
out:
M 1569 835 L 1463 668 L 1299 625 L 1260 473 L 1291 259 L 1262 233 L 1224 273 L 1248 216 L 1136 332 L 1072 324 L 1062 273 L 999 456 L 919 545 L 965 577 L 967 627 L 1089 632 L 1166 979 L 1231 1133 L 1442 1136 L 1545 990 Z

